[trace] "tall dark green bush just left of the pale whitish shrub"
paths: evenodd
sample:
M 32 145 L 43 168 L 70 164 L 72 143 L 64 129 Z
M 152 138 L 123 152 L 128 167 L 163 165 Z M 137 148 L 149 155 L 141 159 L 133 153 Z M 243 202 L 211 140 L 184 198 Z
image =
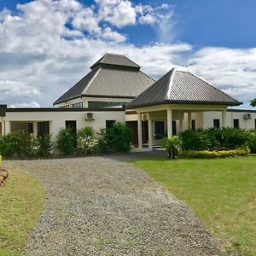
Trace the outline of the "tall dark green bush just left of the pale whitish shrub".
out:
M 76 134 L 70 127 L 61 128 L 56 140 L 56 148 L 58 148 L 61 154 L 72 154 L 76 146 Z

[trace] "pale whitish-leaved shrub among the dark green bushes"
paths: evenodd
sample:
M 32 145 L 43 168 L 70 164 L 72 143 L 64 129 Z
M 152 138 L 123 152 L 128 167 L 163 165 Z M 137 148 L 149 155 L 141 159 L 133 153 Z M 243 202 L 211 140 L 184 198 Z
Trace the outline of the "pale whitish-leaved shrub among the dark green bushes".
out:
M 99 140 L 96 137 L 78 137 L 78 148 L 83 154 L 96 154 L 99 150 Z

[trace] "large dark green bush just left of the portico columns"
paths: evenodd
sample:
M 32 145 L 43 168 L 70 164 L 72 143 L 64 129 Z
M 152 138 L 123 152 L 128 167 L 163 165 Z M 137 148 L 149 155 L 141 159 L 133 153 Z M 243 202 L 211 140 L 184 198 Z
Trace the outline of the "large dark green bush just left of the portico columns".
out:
M 125 152 L 130 150 L 132 131 L 128 125 L 114 123 L 102 130 L 100 147 L 103 152 Z

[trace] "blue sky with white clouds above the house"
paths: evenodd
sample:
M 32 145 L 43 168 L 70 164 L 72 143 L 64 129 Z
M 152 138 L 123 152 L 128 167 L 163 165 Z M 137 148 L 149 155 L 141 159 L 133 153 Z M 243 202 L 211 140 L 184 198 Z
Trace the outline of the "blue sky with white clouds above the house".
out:
M 0 0 L 0 104 L 51 107 L 105 53 L 160 79 L 181 67 L 249 108 L 255 0 Z

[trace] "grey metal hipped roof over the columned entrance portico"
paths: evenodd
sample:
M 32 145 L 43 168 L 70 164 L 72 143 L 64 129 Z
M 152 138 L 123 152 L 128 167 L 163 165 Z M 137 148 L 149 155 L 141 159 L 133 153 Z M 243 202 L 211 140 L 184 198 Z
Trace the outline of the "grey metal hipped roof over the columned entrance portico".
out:
M 172 68 L 148 90 L 128 104 L 128 108 L 161 103 L 212 103 L 238 106 L 241 102 L 218 90 L 195 74 Z

